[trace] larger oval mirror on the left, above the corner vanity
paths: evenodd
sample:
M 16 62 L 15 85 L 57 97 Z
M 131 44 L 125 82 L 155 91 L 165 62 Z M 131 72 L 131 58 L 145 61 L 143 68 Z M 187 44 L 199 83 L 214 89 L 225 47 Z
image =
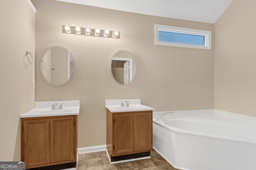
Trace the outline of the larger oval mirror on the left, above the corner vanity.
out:
M 65 47 L 51 47 L 41 60 L 42 76 L 53 86 L 66 84 L 72 78 L 74 69 L 74 58 Z

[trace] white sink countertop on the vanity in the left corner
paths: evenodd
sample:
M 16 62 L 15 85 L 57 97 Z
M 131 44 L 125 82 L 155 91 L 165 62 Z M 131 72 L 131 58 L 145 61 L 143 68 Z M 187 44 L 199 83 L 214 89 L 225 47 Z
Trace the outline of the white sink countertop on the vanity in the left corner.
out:
M 52 104 L 62 104 L 62 109 L 52 109 Z M 20 115 L 24 117 L 45 117 L 45 116 L 62 116 L 62 115 L 79 115 L 80 101 L 46 101 L 35 102 L 35 108 Z

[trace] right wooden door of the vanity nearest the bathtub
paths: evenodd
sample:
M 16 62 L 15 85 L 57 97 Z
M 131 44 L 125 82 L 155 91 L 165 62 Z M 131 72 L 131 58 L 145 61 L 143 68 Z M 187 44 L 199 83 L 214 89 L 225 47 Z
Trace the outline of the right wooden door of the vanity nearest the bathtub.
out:
M 134 113 L 134 152 L 152 150 L 152 113 Z

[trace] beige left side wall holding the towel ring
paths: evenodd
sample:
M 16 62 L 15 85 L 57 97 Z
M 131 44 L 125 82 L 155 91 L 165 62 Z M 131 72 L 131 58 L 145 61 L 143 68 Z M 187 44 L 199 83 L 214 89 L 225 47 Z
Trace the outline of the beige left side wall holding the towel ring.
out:
M 35 14 L 26 0 L 0 1 L 0 161 L 20 161 L 20 115 L 34 108 Z M 28 65 L 27 65 L 28 64 Z

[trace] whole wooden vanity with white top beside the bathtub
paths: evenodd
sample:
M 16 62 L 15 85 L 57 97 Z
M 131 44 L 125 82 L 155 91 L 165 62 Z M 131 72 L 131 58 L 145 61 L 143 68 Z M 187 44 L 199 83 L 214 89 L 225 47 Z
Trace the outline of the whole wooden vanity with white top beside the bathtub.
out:
M 119 101 L 129 101 L 129 106 L 121 106 Z M 153 108 L 141 105 L 140 99 L 106 100 L 106 108 L 110 162 L 148 158 L 152 150 Z

